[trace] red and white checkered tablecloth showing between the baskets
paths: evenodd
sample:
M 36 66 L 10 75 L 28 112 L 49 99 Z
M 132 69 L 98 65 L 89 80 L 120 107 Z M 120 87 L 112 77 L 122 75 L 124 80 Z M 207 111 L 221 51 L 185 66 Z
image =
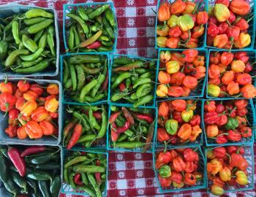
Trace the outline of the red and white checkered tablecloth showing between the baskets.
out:
M 97 1 L 97 0 L 94 0 Z M 100 1 L 100 0 L 98 0 Z M 93 1 L 80 0 L 0 0 L 0 4 L 16 2 L 39 7 L 53 7 L 59 15 L 59 31 L 62 26 L 63 4 L 75 4 Z M 118 20 L 117 53 L 139 55 L 147 58 L 157 57 L 154 49 L 154 23 L 157 0 L 113 0 Z M 62 39 L 60 37 L 60 39 Z M 63 42 L 61 49 L 64 51 Z M 256 147 L 255 147 L 256 150 Z M 256 163 L 256 161 L 255 161 Z M 154 177 L 152 155 L 139 152 L 110 152 L 108 169 L 108 196 L 175 196 L 199 197 L 208 195 L 203 190 L 161 195 Z M 61 194 L 61 197 L 71 195 Z M 255 190 L 227 193 L 225 196 L 256 196 Z M 73 197 L 73 196 L 72 196 Z

